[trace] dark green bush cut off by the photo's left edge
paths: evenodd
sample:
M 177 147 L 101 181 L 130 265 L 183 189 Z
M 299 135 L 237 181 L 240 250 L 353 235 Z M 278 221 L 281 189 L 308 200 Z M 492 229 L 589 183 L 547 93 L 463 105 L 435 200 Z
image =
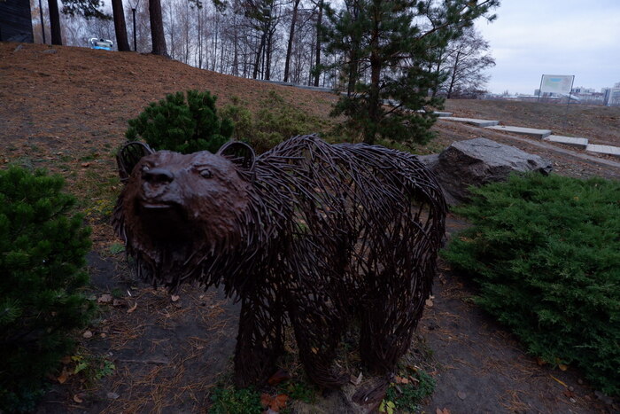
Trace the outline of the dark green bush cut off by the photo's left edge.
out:
M 32 410 L 93 304 L 81 293 L 89 229 L 63 179 L 0 171 L 0 411 Z

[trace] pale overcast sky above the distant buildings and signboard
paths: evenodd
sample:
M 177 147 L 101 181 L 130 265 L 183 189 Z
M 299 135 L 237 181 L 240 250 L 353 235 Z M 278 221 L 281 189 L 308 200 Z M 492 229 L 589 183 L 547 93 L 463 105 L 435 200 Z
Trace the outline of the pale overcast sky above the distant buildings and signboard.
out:
M 533 94 L 542 74 L 574 74 L 574 87 L 620 82 L 620 0 L 501 0 L 477 28 L 496 66 L 487 89 Z

